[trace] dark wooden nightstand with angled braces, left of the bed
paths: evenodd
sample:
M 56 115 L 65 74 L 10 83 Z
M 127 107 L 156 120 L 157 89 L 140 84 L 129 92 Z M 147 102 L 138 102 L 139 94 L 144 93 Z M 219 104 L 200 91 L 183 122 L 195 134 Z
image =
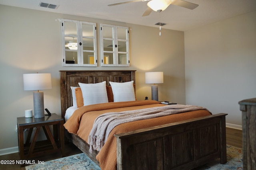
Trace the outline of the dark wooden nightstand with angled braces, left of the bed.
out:
M 17 117 L 18 125 L 18 144 L 20 159 L 28 159 L 35 156 L 44 154 L 51 154 L 55 152 L 61 152 L 61 156 L 64 156 L 64 119 L 58 116 L 56 113 L 52 113 L 50 116 L 42 118 L 25 118 Z M 53 133 L 50 130 L 50 126 L 53 127 Z M 44 130 L 47 140 L 36 141 L 40 127 Z M 35 128 L 32 141 L 32 131 Z M 28 138 L 24 144 L 24 130 L 28 129 Z

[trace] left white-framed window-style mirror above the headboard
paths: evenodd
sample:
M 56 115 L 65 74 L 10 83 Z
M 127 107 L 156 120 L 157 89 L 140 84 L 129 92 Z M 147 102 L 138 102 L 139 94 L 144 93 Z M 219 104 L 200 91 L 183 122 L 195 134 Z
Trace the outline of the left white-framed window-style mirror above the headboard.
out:
M 97 66 L 96 23 L 62 19 L 63 66 Z

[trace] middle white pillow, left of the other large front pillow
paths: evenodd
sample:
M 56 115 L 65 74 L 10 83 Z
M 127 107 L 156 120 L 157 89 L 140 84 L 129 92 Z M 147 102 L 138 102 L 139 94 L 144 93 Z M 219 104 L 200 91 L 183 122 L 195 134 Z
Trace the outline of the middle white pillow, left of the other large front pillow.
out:
M 84 99 L 84 106 L 108 103 L 106 81 L 95 84 L 78 83 Z

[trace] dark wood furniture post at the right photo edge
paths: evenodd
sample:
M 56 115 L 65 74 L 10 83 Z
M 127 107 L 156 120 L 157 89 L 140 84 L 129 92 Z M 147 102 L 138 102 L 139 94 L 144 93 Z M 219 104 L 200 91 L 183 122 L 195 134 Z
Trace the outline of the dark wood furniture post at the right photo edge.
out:
M 242 111 L 243 169 L 256 170 L 256 98 L 239 102 Z

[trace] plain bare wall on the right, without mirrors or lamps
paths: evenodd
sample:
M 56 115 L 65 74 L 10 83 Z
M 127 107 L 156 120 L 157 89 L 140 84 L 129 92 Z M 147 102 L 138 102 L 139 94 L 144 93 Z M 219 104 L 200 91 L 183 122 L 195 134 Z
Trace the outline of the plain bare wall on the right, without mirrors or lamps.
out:
M 256 11 L 184 35 L 186 104 L 228 113 L 240 128 L 238 102 L 256 97 Z

